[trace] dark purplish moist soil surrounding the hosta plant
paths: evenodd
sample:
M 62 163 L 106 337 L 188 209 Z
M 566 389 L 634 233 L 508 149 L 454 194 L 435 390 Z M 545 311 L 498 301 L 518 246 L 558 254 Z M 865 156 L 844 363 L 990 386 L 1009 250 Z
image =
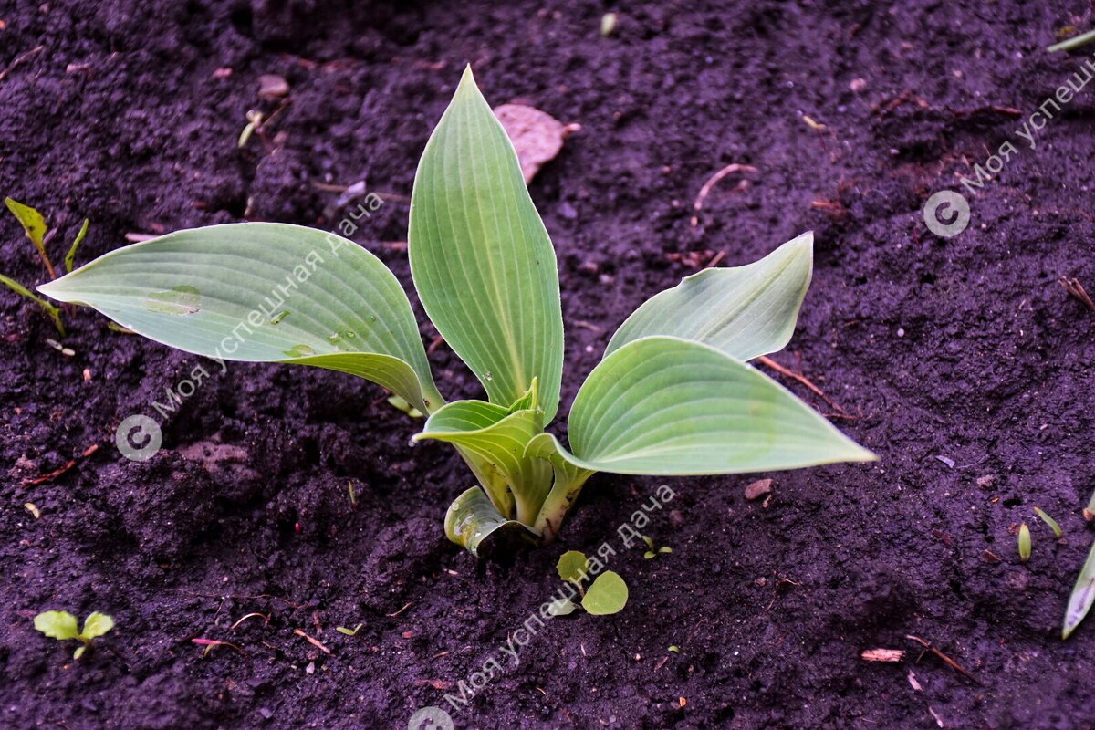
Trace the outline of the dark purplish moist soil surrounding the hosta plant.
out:
M 602 38 L 607 10 L 620 18 Z M 379 387 L 221 373 L 90 311 L 68 317 L 65 357 L 4 290 L 0 726 L 405 728 L 497 658 L 457 728 L 1095 727 L 1095 624 L 1059 636 L 1091 543 L 1095 313 L 1057 281 L 1095 291 L 1095 86 L 1037 149 L 1014 134 L 1090 58 L 1044 50 L 1090 15 L 1080 1 L 0 1 L 0 67 L 42 47 L 0 80 L 0 194 L 55 224 L 55 258 L 84 217 L 81 260 L 127 233 L 244 216 L 330 227 L 338 195 L 314 183 L 366 179 L 389 196 L 357 239 L 410 290 L 400 196 L 471 61 L 493 103 L 583 127 L 531 187 L 560 255 L 564 412 L 646 297 L 812 229 L 814 286 L 775 359 L 881 455 L 771 475 L 766 506 L 742 496 L 758 477 L 672 480 L 645 532 L 673 553 L 654 560 L 616 528 L 660 482 L 599 476 L 558 545 L 476 561 L 441 525 L 470 475 L 441 444 L 412 447 L 418 424 Z M 263 73 L 291 103 L 269 150 L 239 151 L 245 112 L 278 106 L 257 97 Z M 929 194 L 963 189 L 1007 140 L 1019 151 L 968 196 L 969 230 L 931 234 Z M 693 227 L 701 185 L 734 162 L 758 172 L 721 183 Z M 0 234 L 4 271 L 41 282 L 5 211 Z M 477 394 L 451 352 L 433 360 L 446 395 Z M 160 419 L 164 449 L 124 459 L 119 421 L 158 417 L 197 366 L 210 378 Z M 515 667 L 499 647 L 557 589 L 558 554 L 606 541 L 626 610 L 551 621 Z M 32 626 L 47 609 L 117 628 L 72 662 Z M 231 628 L 251 613 L 269 621 Z M 907 635 L 976 679 L 918 662 Z M 244 653 L 203 657 L 193 638 Z M 909 654 L 860 658 L 874 648 Z

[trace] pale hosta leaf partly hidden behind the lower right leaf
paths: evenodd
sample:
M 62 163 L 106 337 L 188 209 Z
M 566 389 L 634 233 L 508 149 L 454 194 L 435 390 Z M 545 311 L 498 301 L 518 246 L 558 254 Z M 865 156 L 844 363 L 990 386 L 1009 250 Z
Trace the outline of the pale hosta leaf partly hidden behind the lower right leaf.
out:
M 809 232 L 747 266 L 704 269 L 635 310 L 606 357 L 650 335 L 704 343 L 739 360 L 781 350 L 795 331 L 812 268 Z

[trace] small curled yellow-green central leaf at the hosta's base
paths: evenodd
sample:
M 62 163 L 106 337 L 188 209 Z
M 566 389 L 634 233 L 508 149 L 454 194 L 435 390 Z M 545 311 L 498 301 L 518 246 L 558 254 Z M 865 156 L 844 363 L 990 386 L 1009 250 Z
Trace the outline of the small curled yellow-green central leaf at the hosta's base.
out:
M 535 381 L 530 390 L 534 389 Z M 430 416 L 414 440 L 453 443 L 485 463 L 488 470 L 497 471 L 503 482 L 493 478 L 484 482 L 495 507 L 509 517 L 509 499 L 504 494 L 508 486 L 517 519 L 532 525 L 551 488 L 551 467 L 543 460 L 526 455 L 525 449 L 542 431 L 543 417 L 535 407 L 510 412 L 483 401 L 457 401 Z

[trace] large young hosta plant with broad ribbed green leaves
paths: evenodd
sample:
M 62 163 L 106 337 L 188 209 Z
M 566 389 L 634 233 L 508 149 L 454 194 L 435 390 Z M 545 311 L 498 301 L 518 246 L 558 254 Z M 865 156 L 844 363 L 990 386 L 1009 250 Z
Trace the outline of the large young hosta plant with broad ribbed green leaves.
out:
M 177 231 L 42 291 L 197 355 L 326 368 L 389 389 L 428 417 L 416 440 L 451 443 L 474 474 L 446 533 L 476 555 L 502 529 L 552 540 L 597 472 L 729 474 L 875 459 L 748 364 L 792 335 L 812 268 L 809 233 L 638 308 L 570 407 L 569 449 L 545 432 L 564 354 L 555 252 L 470 69 L 419 162 L 408 242 L 423 306 L 485 401 L 445 402 L 399 281 L 335 233 L 281 223 Z

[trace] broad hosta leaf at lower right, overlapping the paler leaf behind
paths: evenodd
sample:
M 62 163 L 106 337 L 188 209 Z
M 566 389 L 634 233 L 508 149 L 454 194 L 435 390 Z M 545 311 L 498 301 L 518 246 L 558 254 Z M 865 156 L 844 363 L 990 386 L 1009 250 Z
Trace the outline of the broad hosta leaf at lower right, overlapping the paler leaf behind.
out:
M 646 337 L 593 369 L 570 408 L 570 455 L 616 474 L 736 474 L 876 456 L 789 391 L 719 350 Z M 557 444 L 556 444 L 557 445 Z

